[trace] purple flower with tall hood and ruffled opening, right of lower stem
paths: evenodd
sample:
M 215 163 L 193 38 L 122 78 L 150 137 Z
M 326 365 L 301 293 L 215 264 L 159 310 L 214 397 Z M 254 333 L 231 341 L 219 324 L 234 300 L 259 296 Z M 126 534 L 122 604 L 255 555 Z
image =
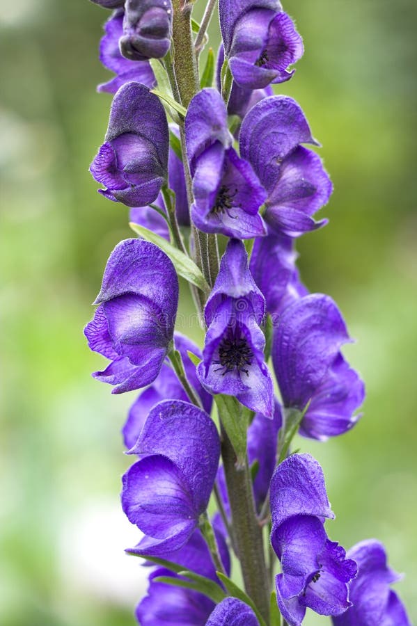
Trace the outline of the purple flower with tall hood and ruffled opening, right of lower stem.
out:
M 320 615 L 344 613 L 356 563 L 330 541 L 324 520 L 333 519 L 322 468 L 309 454 L 293 454 L 271 481 L 271 543 L 281 561 L 278 607 L 289 626 L 299 626 L 309 607 Z

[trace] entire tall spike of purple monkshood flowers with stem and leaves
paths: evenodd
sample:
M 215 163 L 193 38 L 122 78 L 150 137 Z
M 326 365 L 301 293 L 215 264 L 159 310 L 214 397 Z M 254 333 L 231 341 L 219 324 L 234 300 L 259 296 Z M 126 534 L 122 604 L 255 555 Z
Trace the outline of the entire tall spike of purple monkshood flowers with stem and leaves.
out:
M 141 238 L 111 252 L 85 335 L 110 361 L 93 376 L 140 390 L 121 494 L 142 533 L 127 552 L 150 567 L 138 622 L 299 626 L 311 609 L 409 625 L 384 547 L 329 539 L 322 468 L 291 449 L 297 433 L 349 431 L 365 396 L 338 306 L 297 268 L 332 184 L 301 106 L 272 90 L 304 53 L 294 22 L 278 0 L 219 0 L 217 67 L 210 51 L 203 68 L 215 1 L 200 26 L 192 2 L 93 1 L 114 10 L 100 58 L 115 75 L 98 87 L 113 103 L 91 174 Z M 175 330 L 179 276 L 201 346 Z

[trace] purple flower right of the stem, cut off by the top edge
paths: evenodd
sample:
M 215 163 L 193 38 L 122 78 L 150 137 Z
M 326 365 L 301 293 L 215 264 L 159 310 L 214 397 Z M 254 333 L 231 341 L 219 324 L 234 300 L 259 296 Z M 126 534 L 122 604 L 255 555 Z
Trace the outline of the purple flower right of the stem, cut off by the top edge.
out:
M 278 0 L 219 0 L 220 28 L 235 82 L 249 89 L 288 81 L 303 40 Z

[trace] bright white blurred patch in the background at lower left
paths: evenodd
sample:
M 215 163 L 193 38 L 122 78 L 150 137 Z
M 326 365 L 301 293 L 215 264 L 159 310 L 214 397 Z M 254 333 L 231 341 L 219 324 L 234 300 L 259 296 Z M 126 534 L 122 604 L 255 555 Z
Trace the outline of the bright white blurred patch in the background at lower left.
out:
M 94 499 L 70 511 L 58 539 L 58 567 L 65 593 L 95 596 L 130 609 L 148 586 L 142 559 L 125 554 L 143 534 L 130 524 L 117 499 Z

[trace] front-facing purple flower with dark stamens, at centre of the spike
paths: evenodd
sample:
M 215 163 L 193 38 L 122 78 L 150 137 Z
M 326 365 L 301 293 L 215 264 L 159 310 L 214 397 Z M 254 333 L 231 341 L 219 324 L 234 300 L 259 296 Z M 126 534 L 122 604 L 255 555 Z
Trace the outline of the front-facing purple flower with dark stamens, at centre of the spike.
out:
M 203 387 L 212 394 L 235 396 L 251 410 L 273 417 L 272 378 L 260 330 L 265 299 L 249 271 L 242 241 L 229 241 L 204 314 L 208 330 L 197 368 Z

